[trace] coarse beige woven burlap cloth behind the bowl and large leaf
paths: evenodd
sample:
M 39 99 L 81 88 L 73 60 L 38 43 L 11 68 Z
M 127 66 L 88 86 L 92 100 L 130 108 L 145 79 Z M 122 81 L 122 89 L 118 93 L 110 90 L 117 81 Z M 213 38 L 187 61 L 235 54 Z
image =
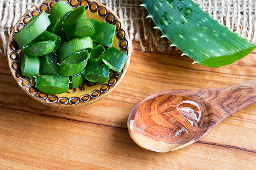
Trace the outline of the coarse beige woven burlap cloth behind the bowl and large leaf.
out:
M 3 40 L 3 50 L 6 54 L 6 38 L 9 37 L 17 20 L 30 8 L 44 0 L 0 0 L 0 37 Z M 131 43 L 140 42 L 140 48 L 145 51 L 144 44 L 149 43 L 150 50 L 168 50 L 171 42 L 160 38 L 161 32 L 154 29 L 154 23 L 144 7 L 142 0 L 98 0 L 123 21 L 128 30 Z M 248 41 L 256 43 L 256 0 L 193 0 L 201 3 L 201 8 L 211 12 L 211 17 L 220 20 L 223 26 L 230 26 L 230 30 L 239 33 Z M 172 48 L 175 49 L 175 48 Z M 0 48 L 0 53 L 3 51 Z

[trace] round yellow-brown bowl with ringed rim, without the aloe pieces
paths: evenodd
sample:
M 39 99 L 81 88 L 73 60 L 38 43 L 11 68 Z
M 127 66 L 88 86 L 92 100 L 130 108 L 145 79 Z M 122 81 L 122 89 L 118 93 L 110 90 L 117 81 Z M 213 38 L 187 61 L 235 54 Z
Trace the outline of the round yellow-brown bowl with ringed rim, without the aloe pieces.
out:
M 129 58 L 120 74 L 117 74 L 115 71 L 110 72 L 108 82 L 106 83 L 100 84 L 85 81 L 78 88 L 69 89 L 63 94 L 44 94 L 35 88 L 35 80 L 30 81 L 28 77 L 21 75 L 20 49 L 13 37 L 21 28 L 23 28 L 24 25 L 26 25 L 26 23 L 28 23 L 31 17 L 37 15 L 43 10 L 47 13 L 56 2 L 58 2 L 58 0 L 47 0 L 38 4 L 27 11 L 26 14 L 24 14 L 17 22 L 10 35 L 7 47 L 9 68 L 20 88 L 22 88 L 30 97 L 42 104 L 58 108 L 78 108 L 81 106 L 87 106 L 110 94 L 125 76 L 131 57 L 128 32 L 119 17 L 117 17 L 116 14 L 113 14 L 113 12 L 103 4 L 93 0 L 80 0 L 79 2 L 77 0 L 69 0 L 68 3 L 74 9 L 84 5 L 87 18 L 115 25 L 116 34 L 114 37 L 113 47 L 127 54 Z

